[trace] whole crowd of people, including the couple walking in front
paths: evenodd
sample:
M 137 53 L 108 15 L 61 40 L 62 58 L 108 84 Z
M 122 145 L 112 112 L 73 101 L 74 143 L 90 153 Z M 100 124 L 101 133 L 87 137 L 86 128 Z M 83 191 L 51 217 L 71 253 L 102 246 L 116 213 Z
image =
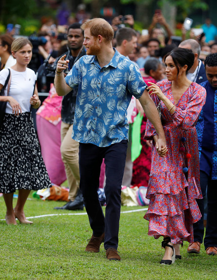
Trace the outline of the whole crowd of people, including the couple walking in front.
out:
M 159 10 L 141 33 L 132 15 L 105 9 L 109 20 L 90 19 L 84 6 L 75 19 L 63 12 L 62 25 L 43 24 L 35 39 L 0 35 L 6 223 L 32 223 L 24 214 L 30 191 L 67 178 L 68 201 L 55 209 L 85 206 L 93 230 L 85 251 L 97 253 L 104 242 L 106 258 L 120 260 L 121 188 L 148 186 L 144 219 L 148 235 L 163 237 L 160 263 L 181 259 L 184 240 L 188 253 L 200 252 L 206 200 L 204 246 L 217 255 L 217 28 L 207 19 L 202 34 L 186 38 L 183 28 L 175 40 Z M 38 91 L 49 96 L 41 100 Z M 142 149 L 132 161 L 137 114 Z

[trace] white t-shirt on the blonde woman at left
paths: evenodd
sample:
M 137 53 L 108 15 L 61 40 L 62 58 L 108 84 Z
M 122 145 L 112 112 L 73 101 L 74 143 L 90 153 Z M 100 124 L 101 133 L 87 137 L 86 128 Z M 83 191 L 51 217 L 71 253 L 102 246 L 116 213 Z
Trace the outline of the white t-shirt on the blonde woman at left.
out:
M 22 113 L 30 112 L 30 98 L 33 95 L 36 74 L 32 69 L 26 68 L 24 72 L 18 72 L 11 69 L 11 85 L 9 89 L 9 96 L 12 96 L 20 104 Z M 8 69 L 4 68 L 0 71 L 0 84 L 4 85 Z M 4 95 L 7 95 L 7 86 L 4 90 Z M 7 102 L 5 113 L 13 114 L 9 102 Z

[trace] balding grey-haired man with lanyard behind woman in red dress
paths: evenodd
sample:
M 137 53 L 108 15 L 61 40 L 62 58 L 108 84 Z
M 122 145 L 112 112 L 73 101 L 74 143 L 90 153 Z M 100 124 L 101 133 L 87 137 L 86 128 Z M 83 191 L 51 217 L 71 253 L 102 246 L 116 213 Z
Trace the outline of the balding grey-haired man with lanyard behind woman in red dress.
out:
M 191 49 L 195 55 L 195 62 L 189 70 L 187 78 L 197 83 L 201 83 L 207 80 L 204 65 L 202 61 L 198 59 L 201 50 L 199 43 L 194 39 L 188 39 L 182 41 L 179 44 L 179 47 L 184 49 Z

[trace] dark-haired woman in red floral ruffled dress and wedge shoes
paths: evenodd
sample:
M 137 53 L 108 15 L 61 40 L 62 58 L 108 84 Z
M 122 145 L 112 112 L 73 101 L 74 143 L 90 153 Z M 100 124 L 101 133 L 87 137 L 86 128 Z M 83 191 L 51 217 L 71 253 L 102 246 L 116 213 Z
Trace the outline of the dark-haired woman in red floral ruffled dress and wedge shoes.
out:
M 199 154 L 195 124 L 206 99 L 205 89 L 187 79 L 194 63 L 191 50 L 176 48 L 165 58 L 168 80 L 148 89 L 156 105 L 161 104 L 161 120 L 168 152 L 159 157 L 152 149 L 152 167 L 146 197 L 150 204 L 144 219 L 149 220 L 148 235 L 163 236 L 165 253 L 160 261 L 172 264 L 180 259 L 179 244 L 193 242 L 193 223 L 201 217 L 196 199 L 199 186 Z M 150 121 L 145 138 L 158 139 Z

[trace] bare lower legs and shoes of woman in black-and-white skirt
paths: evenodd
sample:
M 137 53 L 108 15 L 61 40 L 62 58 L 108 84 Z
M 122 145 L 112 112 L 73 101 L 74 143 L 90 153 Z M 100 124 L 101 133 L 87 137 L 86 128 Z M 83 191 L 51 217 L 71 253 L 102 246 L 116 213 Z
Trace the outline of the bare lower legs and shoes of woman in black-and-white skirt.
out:
M 20 223 L 33 223 L 32 221 L 26 220 L 23 208 L 25 202 L 29 196 L 30 190 L 19 190 L 18 193 L 18 200 L 17 205 L 13 209 L 13 195 L 14 193 L 10 194 L 3 194 L 4 202 L 6 205 L 6 216 L 5 220 L 7 224 L 17 224 L 15 218 L 17 218 Z

